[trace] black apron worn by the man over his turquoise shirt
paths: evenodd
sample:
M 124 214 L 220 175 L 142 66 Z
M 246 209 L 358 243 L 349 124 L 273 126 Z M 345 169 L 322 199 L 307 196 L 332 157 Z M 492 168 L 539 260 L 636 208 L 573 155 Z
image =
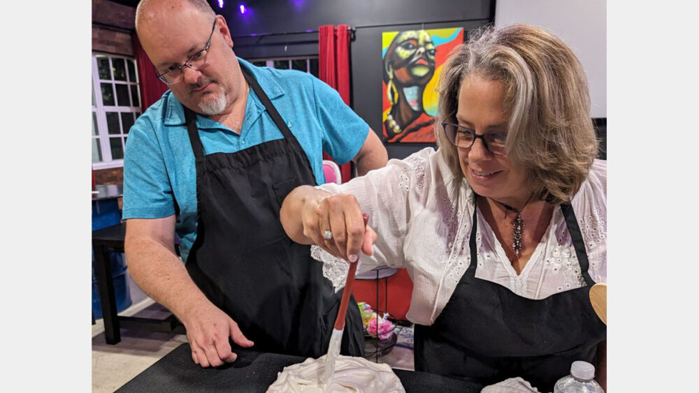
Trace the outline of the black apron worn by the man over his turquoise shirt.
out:
M 310 246 L 292 242 L 279 218 L 287 194 L 315 185 L 315 177 L 257 80 L 240 68 L 284 138 L 205 156 L 196 114 L 185 107 L 198 213 L 187 271 L 255 350 L 319 357 L 327 353 L 342 291 L 334 293 L 322 263 L 310 258 Z M 363 350 L 359 308 L 349 307 L 341 353 L 361 356 Z

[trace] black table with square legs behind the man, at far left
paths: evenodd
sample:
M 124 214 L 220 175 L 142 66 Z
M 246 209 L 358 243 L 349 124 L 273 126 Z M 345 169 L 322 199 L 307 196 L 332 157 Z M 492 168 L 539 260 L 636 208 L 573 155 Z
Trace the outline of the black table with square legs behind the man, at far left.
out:
M 150 332 L 185 334 L 185 326 L 173 315 L 164 319 L 117 316 L 117 301 L 114 295 L 109 253 L 124 252 L 126 228 L 126 223 L 119 223 L 92 231 L 94 270 L 97 274 L 97 287 L 104 320 L 104 336 L 107 343 L 115 344 L 121 341 L 120 329 L 145 329 Z

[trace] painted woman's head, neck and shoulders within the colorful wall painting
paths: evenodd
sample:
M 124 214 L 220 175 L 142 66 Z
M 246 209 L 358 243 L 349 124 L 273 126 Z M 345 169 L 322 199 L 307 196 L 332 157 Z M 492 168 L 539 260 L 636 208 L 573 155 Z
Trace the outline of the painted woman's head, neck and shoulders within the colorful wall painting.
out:
M 435 73 L 435 45 L 425 30 L 398 33 L 384 55 L 384 82 L 391 108 L 384 114 L 384 142 L 429 142 L 434 118 L 422 95 Z

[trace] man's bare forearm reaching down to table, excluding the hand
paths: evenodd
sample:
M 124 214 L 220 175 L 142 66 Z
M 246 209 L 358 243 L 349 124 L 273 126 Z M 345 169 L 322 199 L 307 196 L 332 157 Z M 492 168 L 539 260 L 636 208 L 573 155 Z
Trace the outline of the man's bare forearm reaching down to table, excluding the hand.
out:
M 153 300 L 185 322 L 189 311 L 209 302 L 189 277 L 174 249 L 154 239 L 128 239 L 124 246 L 129 272 L 138 286 Z

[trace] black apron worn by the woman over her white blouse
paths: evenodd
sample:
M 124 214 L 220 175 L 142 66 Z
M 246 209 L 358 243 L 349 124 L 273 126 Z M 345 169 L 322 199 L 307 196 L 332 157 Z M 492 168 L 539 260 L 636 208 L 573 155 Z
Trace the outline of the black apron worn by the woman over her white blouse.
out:
M 552 392 L 575 360 L 597 365 L 597 344 L 607 338 L 607 327 L 589 300 L 594 281 L 575 213 L 570 205 L 561 209 L 587 286 L 533 300 L 477 279 L 474 212 L 468 269 L 435 323 L 415 326 L 417 371 L 475 378 L 485 385 L 519 376 L 540 392 Z

